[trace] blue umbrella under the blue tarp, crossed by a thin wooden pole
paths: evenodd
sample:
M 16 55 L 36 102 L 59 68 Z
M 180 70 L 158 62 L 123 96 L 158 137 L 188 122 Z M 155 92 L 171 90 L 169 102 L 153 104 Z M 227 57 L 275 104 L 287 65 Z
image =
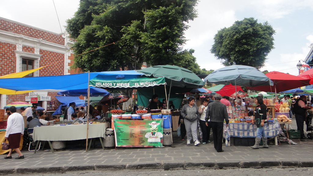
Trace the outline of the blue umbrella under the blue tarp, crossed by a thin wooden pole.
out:
M 65 96 L 87 96 L 87 88 L 86 89 L 74 89 L 74 90 L 62 90 L 58 92 L 58 95 Z M 105 89 L 90 87 L 90 95 L 89 96 L 107 96 L 110 95 L 108 91 Z

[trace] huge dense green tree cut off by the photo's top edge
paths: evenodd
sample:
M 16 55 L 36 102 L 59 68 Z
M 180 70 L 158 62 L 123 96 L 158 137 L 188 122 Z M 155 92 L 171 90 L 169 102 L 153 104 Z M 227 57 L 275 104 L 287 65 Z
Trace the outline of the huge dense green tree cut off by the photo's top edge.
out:
M 133 70 L 146 62 L 202 72 L 192 52 L 182 49 L 196 5 L 197 0 L 81 0 L 66 26 L 76 40 L 73 67 Z

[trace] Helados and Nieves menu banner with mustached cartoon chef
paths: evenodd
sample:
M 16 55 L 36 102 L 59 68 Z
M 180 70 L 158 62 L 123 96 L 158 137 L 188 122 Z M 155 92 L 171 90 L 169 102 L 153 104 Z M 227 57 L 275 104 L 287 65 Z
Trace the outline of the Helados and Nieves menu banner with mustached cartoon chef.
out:
M 114 118 L 116 147 L 163 147 L 163 119 Z

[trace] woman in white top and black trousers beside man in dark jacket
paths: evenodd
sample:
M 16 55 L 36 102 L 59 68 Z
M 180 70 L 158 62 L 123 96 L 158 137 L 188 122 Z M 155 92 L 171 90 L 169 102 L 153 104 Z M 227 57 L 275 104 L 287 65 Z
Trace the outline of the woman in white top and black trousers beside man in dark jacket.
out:
M 208 126 L 205 124 L 205 115 L 207 113 L 208 108 L 208 100 L 205 98 L 202 102 L 202 105 L 199 107 L 199 114 L 200 114 L 200 127 L 203 135 L 202 144 L 206 144 L 210 142 L 210 131 L 211 131 L 211 122 L 209 120 Z

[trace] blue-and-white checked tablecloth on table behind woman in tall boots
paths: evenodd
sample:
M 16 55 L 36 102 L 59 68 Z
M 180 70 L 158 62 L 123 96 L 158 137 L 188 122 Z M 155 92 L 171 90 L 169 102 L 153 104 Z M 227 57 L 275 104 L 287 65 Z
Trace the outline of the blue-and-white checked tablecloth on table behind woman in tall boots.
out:
M 282 132 L 278 122 L 267 122 L 268 126 L 265 128 L 266 137 L 275 137 L 275 145 L 277 143 L 277 135 Z M 226 139 L 225 144 L 228 145 L 230 137 L 256 137 L 256 125 L 252 123 L 226 123 L 224 124 L 224 138 Z

